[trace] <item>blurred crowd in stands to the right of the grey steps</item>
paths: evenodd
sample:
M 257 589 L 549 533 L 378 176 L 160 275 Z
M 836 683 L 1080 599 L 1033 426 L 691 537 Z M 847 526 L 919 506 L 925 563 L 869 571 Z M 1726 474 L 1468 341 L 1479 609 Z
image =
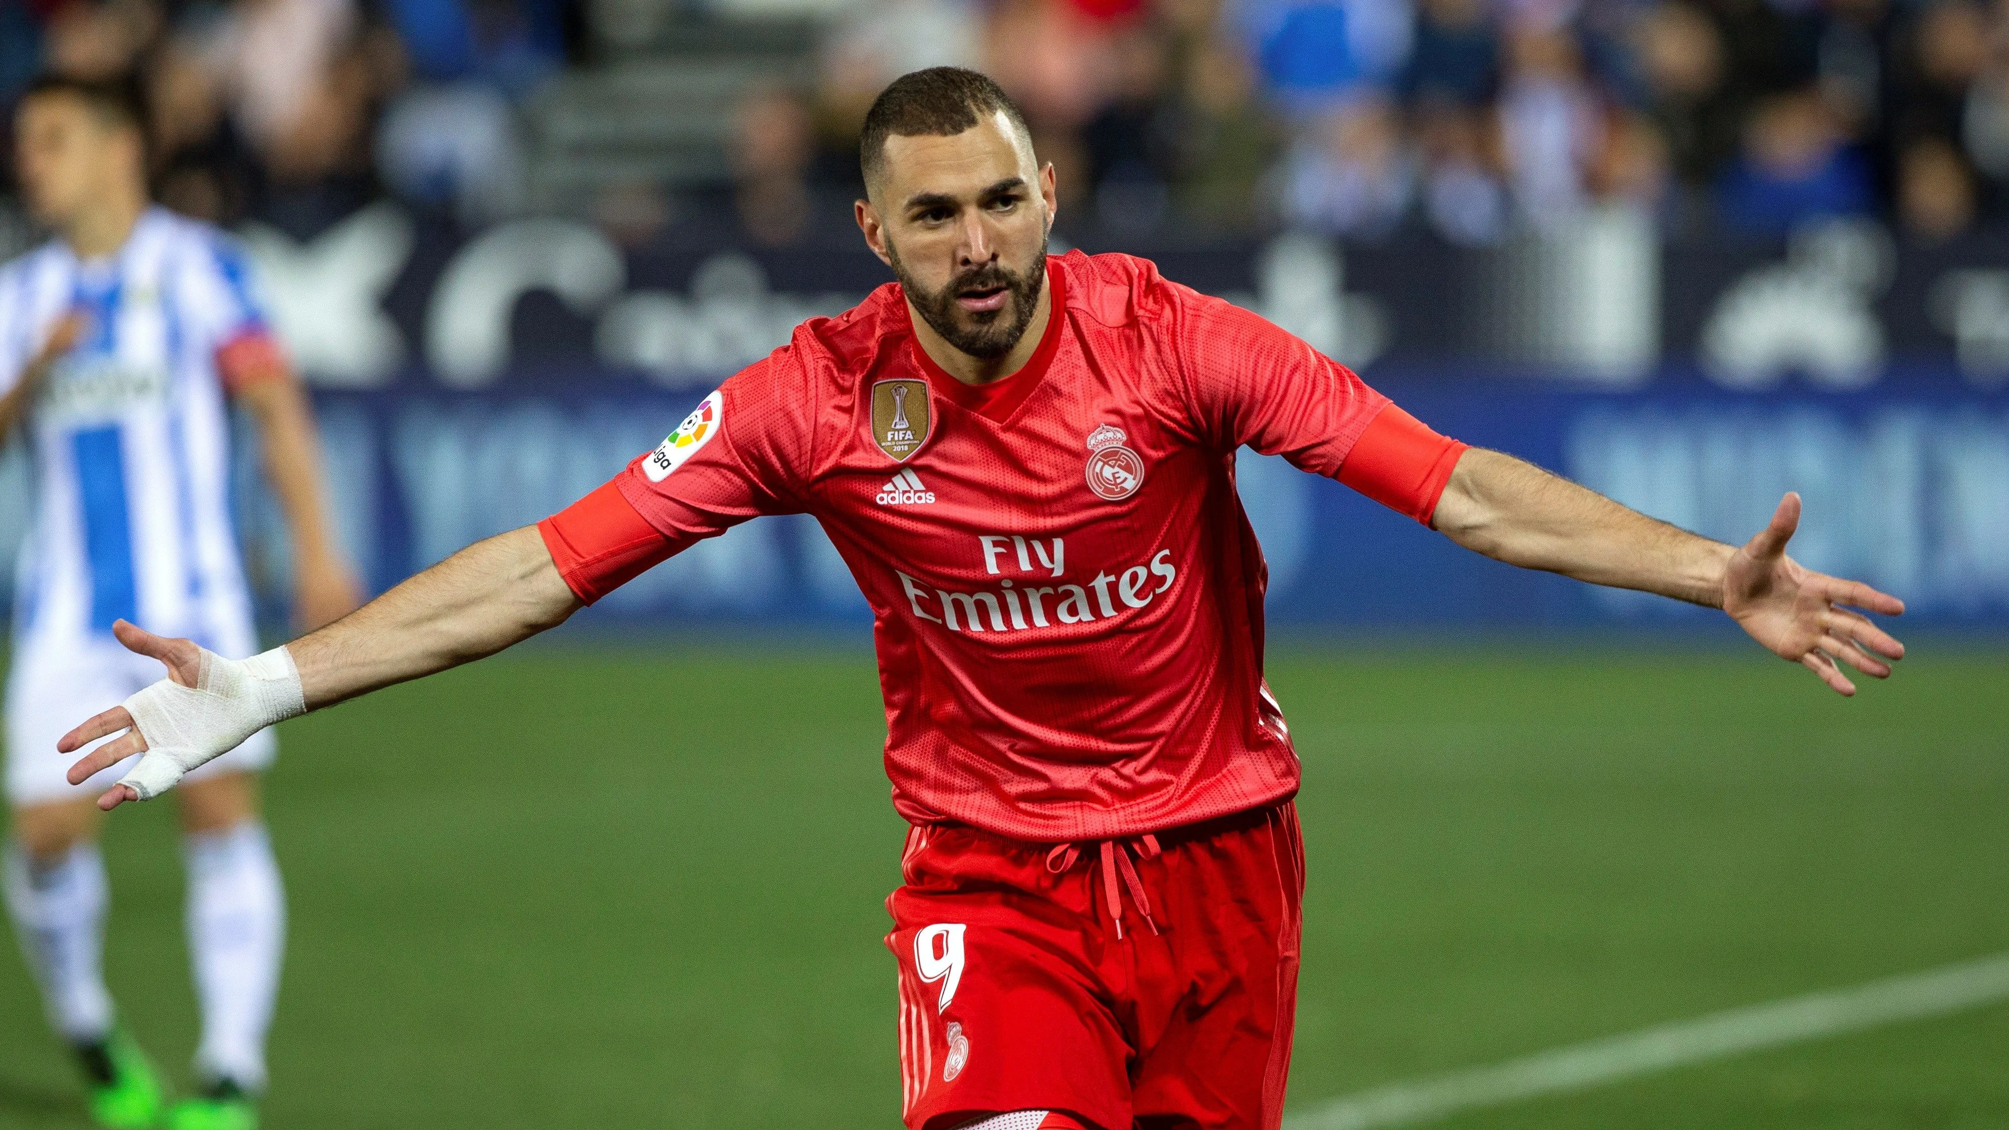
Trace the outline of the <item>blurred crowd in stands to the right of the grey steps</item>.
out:
M 1109 225 L 1491 243 L 1627 203 L 1669 233 L 1947 239 L 2009 213 L 2003 0 L 890 0 L 834 32 L 818 104 L 842 134 L 922 62 L 996 74 Z

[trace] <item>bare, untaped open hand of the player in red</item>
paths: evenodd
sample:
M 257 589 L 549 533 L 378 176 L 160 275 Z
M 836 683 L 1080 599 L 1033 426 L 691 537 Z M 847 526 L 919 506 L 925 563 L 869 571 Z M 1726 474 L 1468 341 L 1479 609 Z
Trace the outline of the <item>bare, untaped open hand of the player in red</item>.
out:
M 1800 496 L 1788 494 L 1772 524 L 1724 568 L 1724 612 L 1780 658 L 1806 666 L 1840 694 L 1854 694 L 1842 664 L 1888 678 L 1890 662 L 1905 658 L 1905 644 L 1850 606 L 1899 616 L 1905 602 L 1788 558 L 1786 542 L 1798 526 Z

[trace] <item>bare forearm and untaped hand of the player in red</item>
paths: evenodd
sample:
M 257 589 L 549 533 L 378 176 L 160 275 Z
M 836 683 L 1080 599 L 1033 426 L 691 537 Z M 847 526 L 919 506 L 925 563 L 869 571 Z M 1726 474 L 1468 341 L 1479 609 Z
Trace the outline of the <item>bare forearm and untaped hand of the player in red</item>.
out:
M 1905 644 L 1866 616 L 1896 616 L 1905 602 L 1812 572 L 1786 556 L 1800 524 L 1800 496 L 1778 504 L 1772 524 L 1744 548 L 1690 534 L 1627 510 L 1565 478 L 1471 448 L 1459 458 L 1430 524 L 1453 542 L 1521 568 L 1591 584 L 1657 592 L 1722 608 L 1754 640 L 1798 662 L 1842 694 L 1856 686 L 1840 664 L 1884 678 Z

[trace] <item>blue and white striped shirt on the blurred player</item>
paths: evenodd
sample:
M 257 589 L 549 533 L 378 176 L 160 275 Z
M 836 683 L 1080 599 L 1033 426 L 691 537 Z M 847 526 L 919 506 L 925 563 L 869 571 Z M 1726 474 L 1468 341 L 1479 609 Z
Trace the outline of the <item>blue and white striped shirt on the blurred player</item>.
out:
M 82 263 L 52 241 L 0 267 L 0 391 L 70 309 L 86 313 L 84 337 L 26 417 L 36 500 L 16 646 L 82 644 L 119 618 L 249 646 L 217 363 L 225 345 L 265 333 L 243 251 L 149 209 L 110 257 Z

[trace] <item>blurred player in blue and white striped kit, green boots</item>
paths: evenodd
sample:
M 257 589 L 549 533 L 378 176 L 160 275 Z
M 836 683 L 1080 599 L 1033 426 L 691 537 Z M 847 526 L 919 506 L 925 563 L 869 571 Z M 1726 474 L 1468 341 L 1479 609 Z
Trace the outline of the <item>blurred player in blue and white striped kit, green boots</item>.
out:
M 257 421 L 291 528 L 299 618 L 350 612 L 358 586 L 327 534 L 311 407 L 243 255 L 149 203 L 143 122 L 127 84 L 68 78 L 36 82 L 16 118 L 22 195 L 54 239 L 0 269 L 0 432 L 22 428 L 36 480 L 6 684 L 6 903 L 102 1126 L 249 1130 L 285 933 L 255 777 L 273 737 L 181 797 L 203 1092 L 175 1106 L 117 1024 L 96 789 L 64 781 L 56 739 L 155 678 L 113 640 L 115 620 L 255 650 L 229 516 L 231 401 Z

